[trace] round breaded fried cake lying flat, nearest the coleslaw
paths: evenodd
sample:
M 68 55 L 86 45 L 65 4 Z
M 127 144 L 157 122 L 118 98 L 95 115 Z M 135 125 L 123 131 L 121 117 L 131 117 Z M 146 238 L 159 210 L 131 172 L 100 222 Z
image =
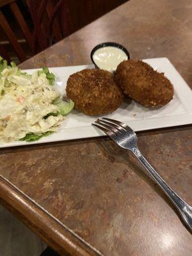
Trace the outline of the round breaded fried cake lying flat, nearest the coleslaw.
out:
M 84 69 L 67 81 L 67 97 L 86 115 L 103 115 L 115 111 L 124 99 L 113 74 L 106 70 Z

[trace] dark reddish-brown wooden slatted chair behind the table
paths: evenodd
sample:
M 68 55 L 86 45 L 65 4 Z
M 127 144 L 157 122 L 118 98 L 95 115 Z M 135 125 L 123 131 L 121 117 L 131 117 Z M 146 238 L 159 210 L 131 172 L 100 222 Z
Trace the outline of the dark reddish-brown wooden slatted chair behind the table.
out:
M 1 10 L 3 6 L 10 8 L 33 54 L 43 51 L 54 42 L 58 42 L 64 36 L 68 35 L 68 0 L 26 0 L 26 6 L 29 8 L 31 19 L 33 20 L 33 32 L 30 31 L 31 28 L 29 29 L 22 12 L 20 12 L 18 3 L 19 1 L 17 0 L 0 1 L 0 26 L 8 37 L 20 61 L 26 60 L 27 57 L 17 40 L 17 36 Z M 60 15 L 58 15 L 58 13 Z M 63 17 L 65 19 L 63 19 Z M 0 55 L 10 61 L 7 52 L 1 44 Z

